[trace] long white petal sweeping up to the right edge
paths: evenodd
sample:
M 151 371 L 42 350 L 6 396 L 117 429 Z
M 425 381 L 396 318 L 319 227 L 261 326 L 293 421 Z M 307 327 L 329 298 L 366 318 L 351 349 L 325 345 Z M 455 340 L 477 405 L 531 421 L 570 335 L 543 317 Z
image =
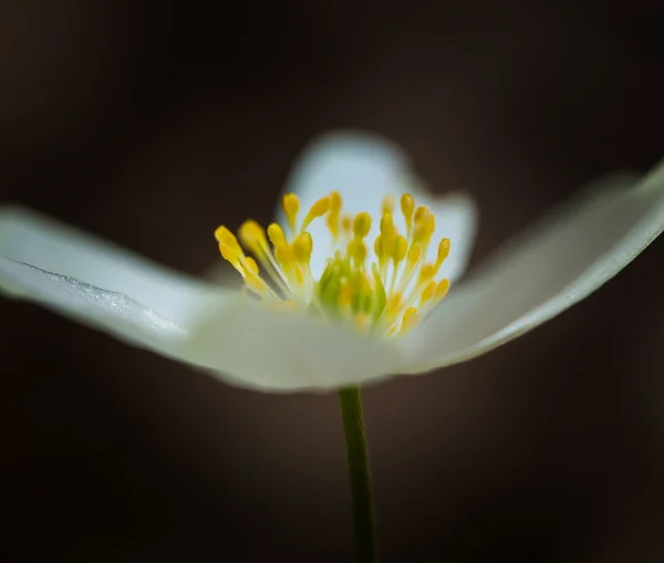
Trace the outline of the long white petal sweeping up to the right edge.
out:
M 453 288 L 398 341 L 401 371 L 443 367 L 523 334 L 595 291 L 664 230 L 664 164 L 643 180 L 616 176 L 589 191 Z

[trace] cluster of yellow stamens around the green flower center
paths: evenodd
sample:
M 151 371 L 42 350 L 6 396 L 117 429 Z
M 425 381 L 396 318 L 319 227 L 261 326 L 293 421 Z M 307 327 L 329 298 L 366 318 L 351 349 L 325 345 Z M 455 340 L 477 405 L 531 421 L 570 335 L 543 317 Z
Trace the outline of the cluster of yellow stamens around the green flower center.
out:
M 215 231 L 215 238 L 221 256 L 242 275 L 245 289 L 259 299 L 396 336 L 416 326 L 449 289 L 449 280 L 436 280 L 449 253 L 449 239 L 442 239 L 435 261 L 426 262 L 424 257 L 436 227 L 434 215 L 425 206 L 416 208 L 409 194 L 404 194 L 400 204 L 405 232 L 398 232 L 394 225 L 394 198 L 387 197 L 382 205 L 380 233 L 372 246 L 366 240 L 371 216 L 344 213 L 336 191 L 313 204 L 301 221 L 298 197 L 283 196 L 286 231 L 278 223 L 266 231 L 247 220 L 237 238 L 224 226 Z M 323 218 L 332 247 L 317 279 L 311 270 L 314 241 L 307 229 Z

